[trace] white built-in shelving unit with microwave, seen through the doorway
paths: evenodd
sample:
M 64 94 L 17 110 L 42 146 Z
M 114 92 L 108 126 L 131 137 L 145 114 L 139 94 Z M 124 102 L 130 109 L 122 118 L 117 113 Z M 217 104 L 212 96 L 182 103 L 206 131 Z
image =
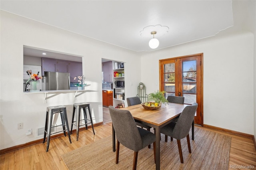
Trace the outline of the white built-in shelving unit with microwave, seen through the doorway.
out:
M 125 88 L 116 86 L 117 81 L 124 81 L 124 63 L 113 61 L 113 106 L 125 106 Z

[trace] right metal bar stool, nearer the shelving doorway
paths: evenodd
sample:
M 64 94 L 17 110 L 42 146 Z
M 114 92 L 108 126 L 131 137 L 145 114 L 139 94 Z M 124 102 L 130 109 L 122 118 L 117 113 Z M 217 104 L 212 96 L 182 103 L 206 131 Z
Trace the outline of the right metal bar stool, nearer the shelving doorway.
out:
M 82 119 L 82 120 L 80 120 L 81 109 L 84 110 L 84 119 Z M 86 109 L 89 110 L 90 120 L 87 119 Z M 76 111 L 76 121 L 74 121 L 75 111 Z M 83 120 L 85 122 L 86 129 L 87 129 L 88 124 L 92 124 L 93 134 L 95 134 L 94 133 L 94 128 L 93 128 L 93 123 L 92 123 L 92 113 L 91 113 L 91 109 L 90 109 L 90 104 L 85 103 L 85 102 L 83 102 L 83 103 L 74 103 L 74 105 L 73 105 L 73 115 L 72 115 L 72 124 L 71 124 L 71 132 L 70 133 L 72 134 L 73 125 L 75 125 L 76 126 L 76 140 L 78 140 L 79 127 L 82 126 L 82 125 L 80 125 L 80 121 L 83 121 Z M 76 124 L 74 122 L 76 122 Z

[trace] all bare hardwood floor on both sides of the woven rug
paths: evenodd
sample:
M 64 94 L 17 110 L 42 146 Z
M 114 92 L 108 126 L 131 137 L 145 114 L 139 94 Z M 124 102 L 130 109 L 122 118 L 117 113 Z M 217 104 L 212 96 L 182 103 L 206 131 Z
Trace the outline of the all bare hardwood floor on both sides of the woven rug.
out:
M 256 151 L 251 138 L 220 132 L 209 128 L 204 129 L 232 137 L 229 159 L 230 170 L 245 169 L 244 167 L 241 168 L 239 166 L 254 166 L 252 169 L 256 169 Z M 92 128 L 81 130 L 79 132 L 78 141 L 76 141 L 76 133 L 72 133 L 72 144 L 70 144 L 67 136 L 51 139 L 48 152 L 46 152 L 45 142 L 44 144 L 35 144 L 20 150 L 2 154 L 0 155 L 0 170 L 66 170 L 67 167 L 62 161 L 61 155 L 112 135 L 112 123 L 104 123 L 103 125 L 94 127 L 94 130 L 95 135 L 93 135 Z M 234 168 L 235 166 L 236 168 Z

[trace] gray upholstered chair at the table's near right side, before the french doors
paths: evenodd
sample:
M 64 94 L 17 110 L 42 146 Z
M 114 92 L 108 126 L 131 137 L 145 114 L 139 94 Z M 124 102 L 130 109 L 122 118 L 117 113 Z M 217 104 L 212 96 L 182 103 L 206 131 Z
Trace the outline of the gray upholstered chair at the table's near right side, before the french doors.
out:
M 182 156 L 180 139 L 187 137 L 188 151 L 189 151 L 189 153 L 191 153 L 189 130 L 190 130 L 191 124 L 194 120 L 194 115 L 196 113 L 197 107 L 198 107 L 197 103 L 194 103 L 193 105 L 186 106 L 184 108 L 184 110 L 182 111 L 182 113 L 180 114 L 180 117 L 177 120 L 177 122 L 171 122 L 168 125 L 166 125 L 160 129 L 161 133 L 177 139 L 181 163 L 183 163 L 183 156 Z

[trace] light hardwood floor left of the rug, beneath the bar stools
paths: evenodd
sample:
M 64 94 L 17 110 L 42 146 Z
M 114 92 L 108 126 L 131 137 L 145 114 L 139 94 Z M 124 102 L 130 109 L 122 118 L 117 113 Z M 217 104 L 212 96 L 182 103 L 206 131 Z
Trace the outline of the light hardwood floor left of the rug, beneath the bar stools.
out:
M 79 138 L 76 141 L 76 133 L 71 134 L 72 144 L 68 135 L 53 138 L 50 140 L 48 152 L 46 152 L 46 142 L 35 144 L 20 150 L 0 155 L 1 170 L 67 170 L 62 161 L 61 155 L 90 144 L 101 138 L 106 138 L 112 134 L 112 123 L 103 124 L 92 128 L 79 131 Z

